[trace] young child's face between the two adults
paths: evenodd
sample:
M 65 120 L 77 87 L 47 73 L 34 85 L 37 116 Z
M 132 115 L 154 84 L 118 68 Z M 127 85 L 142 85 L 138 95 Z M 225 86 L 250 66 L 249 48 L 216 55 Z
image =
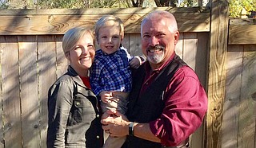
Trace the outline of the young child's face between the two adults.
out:
M 119 49 L 122 36 L 118 25 L 103 26 L 98 31 L 98 45 L 106 54 L 111 54 Z

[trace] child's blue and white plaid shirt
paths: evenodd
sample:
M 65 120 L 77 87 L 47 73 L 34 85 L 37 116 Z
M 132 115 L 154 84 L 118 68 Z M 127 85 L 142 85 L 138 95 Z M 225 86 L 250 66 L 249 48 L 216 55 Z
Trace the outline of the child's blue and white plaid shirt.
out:
M 112 54 L 98 49 L 90 72 L 90 85 L 95 95 L 102 91 L 130 92 L 132 82 L 129 61 L 132 58 L 124 48 Z

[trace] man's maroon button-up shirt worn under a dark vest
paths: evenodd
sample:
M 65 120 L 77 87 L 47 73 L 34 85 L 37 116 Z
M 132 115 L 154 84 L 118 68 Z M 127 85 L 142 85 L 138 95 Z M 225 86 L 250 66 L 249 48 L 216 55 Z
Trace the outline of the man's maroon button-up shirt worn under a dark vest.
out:
M 175 53 L 171 56 L 172 60 Z M 169 61 L 166 62 L 168 64 Z M 150 86 L 163 67 L 151 71 L 146 64 L 146 78 L 141 94 Z M 164 146 L 177 146 L 200 127 L 207 110 L 207 96 L 193 69 L 178 68 L 164 94 L 166 100 L 161 118 L 150 122 L 150 130 Z

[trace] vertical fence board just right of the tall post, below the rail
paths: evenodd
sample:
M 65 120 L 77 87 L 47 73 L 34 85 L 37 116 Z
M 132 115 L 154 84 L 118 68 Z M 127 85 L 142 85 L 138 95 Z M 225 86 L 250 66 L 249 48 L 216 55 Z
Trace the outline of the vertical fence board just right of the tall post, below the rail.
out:
M 242 45 L 229 46 L 226 56 L 226 96 L 223 107 L 222 147 L 238 146 L 239 103 L 242 80 Z

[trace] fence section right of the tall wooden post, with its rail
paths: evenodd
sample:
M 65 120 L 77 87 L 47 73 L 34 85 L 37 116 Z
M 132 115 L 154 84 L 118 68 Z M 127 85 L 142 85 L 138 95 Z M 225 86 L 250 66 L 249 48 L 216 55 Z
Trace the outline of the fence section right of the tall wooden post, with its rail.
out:
M 230 19 L 222 147 L 256 147 L 256 19 Z

